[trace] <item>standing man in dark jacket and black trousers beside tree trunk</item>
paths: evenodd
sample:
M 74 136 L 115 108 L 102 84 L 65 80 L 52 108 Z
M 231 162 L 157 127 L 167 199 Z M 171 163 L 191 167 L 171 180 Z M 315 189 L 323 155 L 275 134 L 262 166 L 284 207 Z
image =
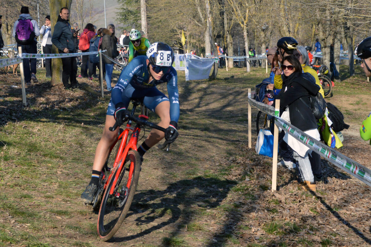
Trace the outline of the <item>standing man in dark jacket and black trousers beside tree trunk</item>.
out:
M 57 23 L 54 26 L 52 43 L 58 48 L 59 54 L 75 53 L 76 47 L 73 42 L 71 25 L 69 24 L 69 10 L 66 7 L 60 9 Z M 62 57 L 62 83 L 66 90 L 77 88 L 76 74 L 77 63 L 76 57 Z M 68 83 L 68 79 L 70 83 Z

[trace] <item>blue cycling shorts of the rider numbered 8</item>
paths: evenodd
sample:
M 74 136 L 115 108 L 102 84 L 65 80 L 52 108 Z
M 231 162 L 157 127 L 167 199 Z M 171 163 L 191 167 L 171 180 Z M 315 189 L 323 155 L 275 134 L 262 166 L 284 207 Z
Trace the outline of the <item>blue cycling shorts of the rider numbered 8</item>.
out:
M 162 101 L 169 101 L 169 98 L 165 96 L 160 90 L 156 87 L 150 87 L 147 89 L 135 89 L 131 84 L 129 84 L 124 92 L 122 93 L 122 103 L 125 104 L 126 109 L 128 109 L 130 99 L 140 99 L 144 97 L 143 103 L 145 107 L 155 112 L 156 107 Z M 108 109 L 106 115 L 114 116 L 115 106 L 112 103 L 112 99 L 108 103 Z

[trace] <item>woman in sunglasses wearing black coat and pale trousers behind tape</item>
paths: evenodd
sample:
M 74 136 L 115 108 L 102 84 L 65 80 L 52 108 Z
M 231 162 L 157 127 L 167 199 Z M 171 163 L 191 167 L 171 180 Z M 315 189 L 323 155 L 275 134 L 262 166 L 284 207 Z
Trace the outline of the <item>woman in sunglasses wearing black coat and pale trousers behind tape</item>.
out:
M 315 79 L 311 74 L 303 73 L 299 60 L 293 55 L 287 56 L 282 60 L 281 69 L 283 70 L 283 85 L 275 99 L 280 100 L 282 119 L 285 119 L 316 140 L 320 140 L 316 118 L 311 109 L 309 109 L 311 105 L 309 96 L 316 95 L 319 91 L 319 86 L 316 85 Z M 315 191 L 316 183 L 308 157 L 308 155 L 311 155 L 312 150 L 288 133 L 283 139 L 294 151 L 293 156 L 298 162 L 298 170 L 305 184 L 304 188 Z

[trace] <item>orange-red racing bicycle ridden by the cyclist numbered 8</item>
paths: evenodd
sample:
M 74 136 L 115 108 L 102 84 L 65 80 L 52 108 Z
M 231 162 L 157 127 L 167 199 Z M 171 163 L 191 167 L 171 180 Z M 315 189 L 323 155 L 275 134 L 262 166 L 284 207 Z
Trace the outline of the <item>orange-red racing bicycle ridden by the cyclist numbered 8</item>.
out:
M 128 213 L 137 188 L 139 173 L 141 171 L 141 157 L 137 152 L 137 142 L 141 129 L 144 126 L 155 128 L 165 132 L 165 128 L 151 123 L 146 116 L 141 100 L 132 99 L 133 108 L 125 130 L 120 128 L 115 143 L 110 148 L 110 154 L 106 160 L 100 177 L 98 192 L 93 199 L 93 208 L 98 209 L 97 230 L 99 237 L 107 241 L 114 236 Z M 135 109 L 141 105 L 141 113 L 134 116 Z M 132 123 L 135 126 L 132 127 Z M 118 126 L 109 127 L 114 131 Z M 129 139 L 129 132 L 132 132 Z M 165 141 L 163 147 L 165 147 Z M 170 144 L 167 144 L 169 147 Z M 101 203 L 100 203 L 101 202 Z M 99 206 L 100 203 L 100 206 Z

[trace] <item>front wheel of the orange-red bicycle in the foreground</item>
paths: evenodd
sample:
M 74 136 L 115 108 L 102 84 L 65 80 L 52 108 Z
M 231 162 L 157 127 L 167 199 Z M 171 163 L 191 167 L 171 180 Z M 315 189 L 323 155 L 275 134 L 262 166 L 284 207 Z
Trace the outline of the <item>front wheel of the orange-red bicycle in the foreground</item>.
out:
M 128 155 L 118 163 L 108 181 L 99 209 L 97 226 L 98 235 L 104 241 L 114 236 L 129 211 L 139 180 L 140 166 L 141 159 L 138 152 L 130 150 Z M 112 194 L 109 193 L 111 188 L 113 188 Z

